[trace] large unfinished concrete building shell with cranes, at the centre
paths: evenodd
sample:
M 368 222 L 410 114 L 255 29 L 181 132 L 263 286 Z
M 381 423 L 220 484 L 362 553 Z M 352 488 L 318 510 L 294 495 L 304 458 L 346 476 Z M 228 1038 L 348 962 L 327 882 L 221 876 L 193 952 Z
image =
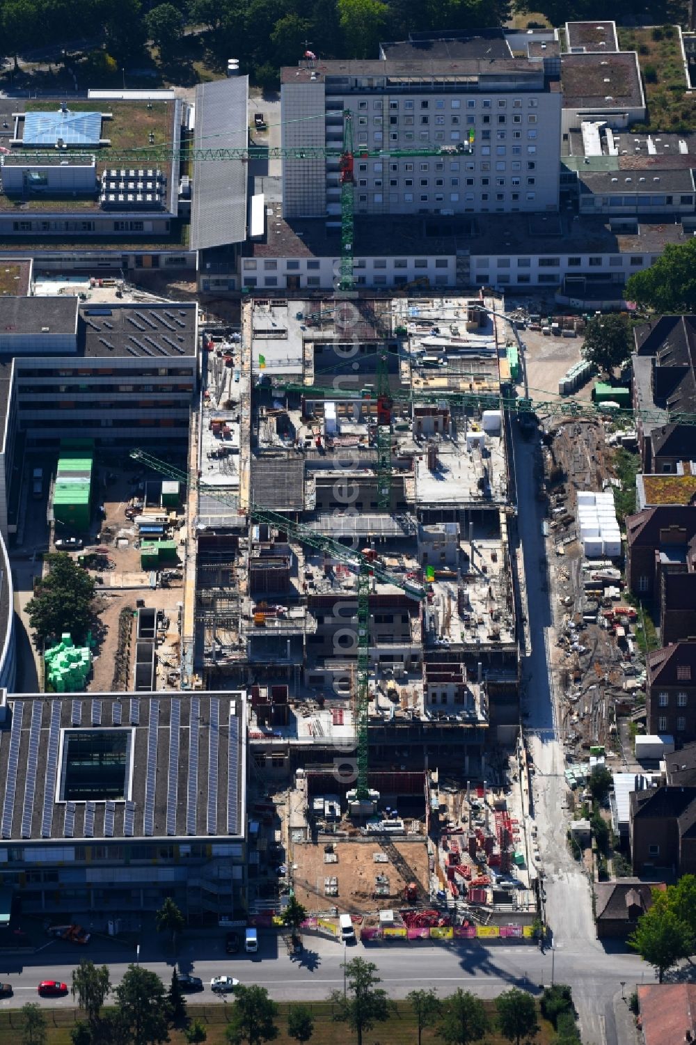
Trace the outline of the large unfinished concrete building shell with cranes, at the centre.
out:
M 250 301 L 240 335 L 204 331 L 182 686 L 248 693 L 251 909 L 291 886 L 328 916 L 442 895 L 455 925 L 518 866 L 495 827 L 519 728 L 501 408 L 519 371 L 496 306 Z M 447 856 L 428 764 L 467 795 Z

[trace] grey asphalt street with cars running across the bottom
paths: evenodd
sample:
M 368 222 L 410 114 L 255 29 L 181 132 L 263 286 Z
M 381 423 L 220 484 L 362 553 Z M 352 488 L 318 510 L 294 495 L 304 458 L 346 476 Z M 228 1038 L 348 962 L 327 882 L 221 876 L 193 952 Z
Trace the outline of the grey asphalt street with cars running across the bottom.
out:
M 343 985 L 341 967 L 344 952 L 335 940 L 305 936 L 304 955 L 302 960 L 297 960 L 291 959 L 284 949 L 280 951 L 276 948 L 275 934 L 261 933 L 260 936 L 260 957 L 252 958 L 245 954 L 227 957 L 223 953 L 221 938 L 187 938 L 184 935 L 178 952 L 179 966 L 183 971 L 201 976 L 206 984 L 212 976 L 234 975 L 242 983 L 253 982 L 268 988 L 271 995 L 281 1001 L 321 1000 Z M 358 954 L 377 965 L 385 986 L 395 998 L 403 998 L 418 985 L 433 985 L 442 995 L 461 985 L 482 997 L 494 997 L 514 985 L 536 991 L 539 983 L 550 982 L 552 960 L 555 979 L 572 982 L 579 995 L 590 996 L 593 992 L 599 992 L 605 978 L 605 973 L 598 968 L 597 953 L 588 953 L 583 946 L 565 944 L 559 944 L 553 958 L 549 951 L 541 954 L 526 944 L 393 944 L 367 947 L 357 944 L 347 950 L 349 958 Z M 15 997 L 0 1002 L 0 1006 L 17 1006 L 37 1000 L 37 984 L 42 979 L 57 979 L 70 984 L 72 969 L 80 956 L 89 956 L 96 963 L 107 962 L 114 985 L 120 982 L 127 962 L 136 958 L 134 951 L 126 952 L 111 940 L 98 938 L 85 949 L 61 940 L 49 943 L 24 966 L 11 957 L 0 958 L 2 979 L 9 981 L 15 990 Z M 140 963 L 158 973 L 165 983 L 169 981 L 171 958 L 166 959 L 159 940 L 153 940 L 152 946 L 143 945 Z M 426 976 L 424 970 L 427 970 Z M 633 956 L 617 954 L 611 957 L 612 983 L 613 977 L 618 985 L 619 979 L 632 982 L 635 976 L 636 959 Z M 637 978 L 640 980 L 640 973 Z M 200 1001 L 210 1002 L 213 999 L 209 986 L 196 996 Z M 63 999 L 38 1000 L 47 1007 L 73 1005 L 70 995 Z M 583 1041 L 590 1040 L 583 1037 Z

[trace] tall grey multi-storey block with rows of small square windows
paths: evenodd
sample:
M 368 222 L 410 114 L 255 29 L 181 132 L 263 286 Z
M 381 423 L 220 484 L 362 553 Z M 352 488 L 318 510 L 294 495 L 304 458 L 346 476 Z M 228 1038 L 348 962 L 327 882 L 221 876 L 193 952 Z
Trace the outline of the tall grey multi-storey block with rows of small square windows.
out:
M 340 149 L 350 113 L 357 214 L 558 208 L 561 95 L 539 63 L 305 62 L 281 102 L 286 148 Z M 284 217 L 340 214 L 338 157 L 285 158 Z

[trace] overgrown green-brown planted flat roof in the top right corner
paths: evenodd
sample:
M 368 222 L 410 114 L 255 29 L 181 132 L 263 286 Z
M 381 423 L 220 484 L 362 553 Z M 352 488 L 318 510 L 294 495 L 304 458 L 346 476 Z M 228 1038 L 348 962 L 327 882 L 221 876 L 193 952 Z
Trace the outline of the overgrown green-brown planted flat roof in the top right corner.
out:
M 676 26 L 619 27 L 618 31 L 622 50 L 637 51 L 648 107 L 646 130 L 693 131 L 696 96 L 687 96 L 689 86 Z

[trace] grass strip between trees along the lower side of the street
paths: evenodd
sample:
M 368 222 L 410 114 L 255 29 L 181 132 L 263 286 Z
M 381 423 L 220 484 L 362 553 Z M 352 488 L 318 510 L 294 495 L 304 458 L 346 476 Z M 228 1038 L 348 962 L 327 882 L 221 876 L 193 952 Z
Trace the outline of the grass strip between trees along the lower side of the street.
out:
M 227 1026 L 226 1009 L 228 1005 L 188 1005 L 188 1015 L 191 1019 L 199 1019 L 203 1022 L 208 1031 L 206 1045 L 227 1045 L 225 1028 Z M 485 1001 L 489 1018 L 494 1019 L 495 1007 L 492 1001 Z M 331 1019 L 331 1003 L 328 1001 L 314 1002 L 309 1006 L 315 1015 L 315 1032 L 311 1038 L 312 1045 L 335 1045 L 337 1041 L 350 1045 L 355 1041 L 345 1024 L 333 1023 Z M 287 1037 L 287 1013 L 289 1004 L 284 1003 L 278 1006 L 278 1027 L 280 1035 L 276 1039 L 278 1045 L 292 1045 L 293 1039 Z M 48 1037 L 46 1045 L 71 1045 L 70 1027 L 74 1025 L 78 1013 L 72 1008 L 44 1009 L 48 1018 Z M 555 1037 L 555 1031 L 551 1023 L 539 1017 L 541 1029 L 534 1039 L 535 1045 L 551 1045 Z M 16 1040 L 21 1030 L 22 1018 L 17 1009 L 4 1011 L 0 1013 L 0 1041 Z M 170 1032 L 172 1045 L 186 1045 L 186 1039 L 180 1030 Z M 432 1028 L 423 1030 L 423 1042 L 435 1042 L 438 1039 Z M 496 1030 L 488 1031 L 485 1036 L 488 1045 L 507 1045 L 505 1039 Z M 364 1045 L 409 1045 L 418 1041 L 418 1031 L 411 1006 L 407 1001 L 397 1001 L 396 1011 L 388 1023 L 377 1024 L 373 1030 L 364 1035 Z

